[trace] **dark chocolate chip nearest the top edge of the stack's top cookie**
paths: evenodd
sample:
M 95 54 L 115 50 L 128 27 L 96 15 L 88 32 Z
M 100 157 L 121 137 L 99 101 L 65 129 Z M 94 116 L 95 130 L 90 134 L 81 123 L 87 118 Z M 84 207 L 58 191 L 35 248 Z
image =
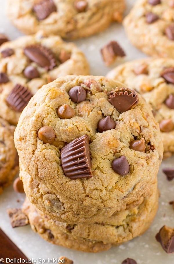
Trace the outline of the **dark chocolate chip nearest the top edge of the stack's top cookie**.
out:
M 70 99 L 75 102 L 79 103 L 86 99 L 86 91 L 81 86 L 74 86 L 68 92 Z

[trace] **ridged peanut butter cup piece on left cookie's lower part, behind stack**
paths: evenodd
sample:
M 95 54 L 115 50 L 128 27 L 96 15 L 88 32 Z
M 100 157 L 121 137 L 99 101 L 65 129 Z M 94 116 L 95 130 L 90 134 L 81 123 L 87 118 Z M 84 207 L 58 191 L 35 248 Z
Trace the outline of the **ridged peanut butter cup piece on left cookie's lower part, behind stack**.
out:
M 15 111 L 22 112 L 32 96 L 32 93 L 26 87 L 16 84 L 6 98 L 6 102 Z

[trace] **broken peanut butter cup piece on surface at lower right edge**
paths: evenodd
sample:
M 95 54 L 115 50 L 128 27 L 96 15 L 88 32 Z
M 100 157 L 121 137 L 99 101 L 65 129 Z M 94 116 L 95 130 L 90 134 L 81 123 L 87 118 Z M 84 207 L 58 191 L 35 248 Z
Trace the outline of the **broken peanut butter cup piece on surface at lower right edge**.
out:
M 155 238 L 167 253 L 174 253 L 174 229 L 164 225 Z

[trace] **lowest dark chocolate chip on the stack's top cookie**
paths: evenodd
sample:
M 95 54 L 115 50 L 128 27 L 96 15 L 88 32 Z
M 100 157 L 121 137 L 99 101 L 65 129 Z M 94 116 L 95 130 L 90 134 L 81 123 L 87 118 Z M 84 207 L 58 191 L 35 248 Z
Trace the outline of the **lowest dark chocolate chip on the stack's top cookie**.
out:
M 128 174 L 130 170 L 129 163 L 124 155 L 113 160 L 112 168 L 117 174 L 122 176 Z

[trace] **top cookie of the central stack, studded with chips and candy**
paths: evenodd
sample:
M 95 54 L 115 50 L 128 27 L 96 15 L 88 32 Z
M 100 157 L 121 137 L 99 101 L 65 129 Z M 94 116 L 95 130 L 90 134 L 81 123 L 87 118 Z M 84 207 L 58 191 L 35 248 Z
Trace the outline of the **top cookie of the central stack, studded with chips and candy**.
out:
M 160 130 L 145 100 L 123 86 L 66 76 L 23 110 L 15 146 L 32 180 L 48 188 L 33 196 L 52 219 L 92 223 L 148 195 L 162 160 Z

